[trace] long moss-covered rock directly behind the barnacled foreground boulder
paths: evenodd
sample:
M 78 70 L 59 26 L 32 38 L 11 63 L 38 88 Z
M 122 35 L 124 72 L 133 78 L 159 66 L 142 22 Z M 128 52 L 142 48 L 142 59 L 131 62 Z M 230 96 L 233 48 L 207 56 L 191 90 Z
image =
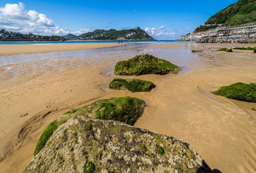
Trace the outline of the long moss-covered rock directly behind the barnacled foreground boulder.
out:
M 34 156 L 37 155 L 45 146 L 53 132 L 74 115 L 90 116 L 102 120 L 116 120 L 129 125 L 134 125 L 142 115 L 145 102 L 135 97 L 113 97 L 111 99 L 97 100 L 76 111 L 69 111 L 60 116 L 56 121 L 50 123 L 41 134 Z M 85 130 L 91 130 L 92 124 L 87 124 Z

